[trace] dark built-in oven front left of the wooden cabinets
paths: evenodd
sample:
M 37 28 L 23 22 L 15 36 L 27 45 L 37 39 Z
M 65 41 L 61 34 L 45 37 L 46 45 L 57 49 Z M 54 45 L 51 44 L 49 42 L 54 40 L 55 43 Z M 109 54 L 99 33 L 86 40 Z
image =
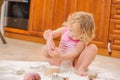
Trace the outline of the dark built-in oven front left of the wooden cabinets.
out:
M 7 21 L 6 27 L 28 30 L 29 2 L 28 0 L 7 0 Z

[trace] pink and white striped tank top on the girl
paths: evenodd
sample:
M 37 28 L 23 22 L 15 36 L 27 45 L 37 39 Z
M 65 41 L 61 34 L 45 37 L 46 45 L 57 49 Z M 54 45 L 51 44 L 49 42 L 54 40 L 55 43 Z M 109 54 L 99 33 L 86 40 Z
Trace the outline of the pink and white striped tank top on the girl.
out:
M 68 32 L 69 32 L 69 29 L 68 29 L 68 27 L 66 27 L 63 34 L 62 34 L 62 36 L 61 36 L 59 48 L 63 52 L 67 52 L 67 51 L 72 50 L 79 42 L 79 40 L 71 39 L 68 36 Z

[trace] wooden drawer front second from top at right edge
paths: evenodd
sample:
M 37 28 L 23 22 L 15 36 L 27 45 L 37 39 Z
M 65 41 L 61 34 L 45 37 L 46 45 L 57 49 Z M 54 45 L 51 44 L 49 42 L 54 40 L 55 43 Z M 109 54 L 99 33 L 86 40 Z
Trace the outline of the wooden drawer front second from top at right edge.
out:
M 112 4 L 111 18 L 120 19 L 120 5 L 119 4 Z

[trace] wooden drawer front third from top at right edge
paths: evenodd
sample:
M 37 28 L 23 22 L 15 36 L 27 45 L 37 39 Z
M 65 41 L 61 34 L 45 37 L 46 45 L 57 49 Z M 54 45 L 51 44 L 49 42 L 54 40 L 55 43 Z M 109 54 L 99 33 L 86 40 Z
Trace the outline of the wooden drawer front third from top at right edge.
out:
M 110 20 L 110 34 L 120 35 L 120 20 Z

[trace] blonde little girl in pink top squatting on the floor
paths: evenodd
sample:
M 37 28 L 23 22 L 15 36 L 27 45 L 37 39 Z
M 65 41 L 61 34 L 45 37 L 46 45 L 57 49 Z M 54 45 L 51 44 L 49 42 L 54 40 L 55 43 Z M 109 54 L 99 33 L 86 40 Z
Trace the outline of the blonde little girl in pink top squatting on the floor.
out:
M 52 65 L 60 66 L 64 61 L 72 61 L 73 67 L 81 76 L 94 60 L 97 47 L 90 44 L 95 37 L 93 15 L 86 12 L 75 12 L 68 16 L 63 27 L 57 30 L 44 32 L 46 45 L 42 48 L 47 61 Z M 53 39 L 61 36 L 59 47 L 55 47 Z

